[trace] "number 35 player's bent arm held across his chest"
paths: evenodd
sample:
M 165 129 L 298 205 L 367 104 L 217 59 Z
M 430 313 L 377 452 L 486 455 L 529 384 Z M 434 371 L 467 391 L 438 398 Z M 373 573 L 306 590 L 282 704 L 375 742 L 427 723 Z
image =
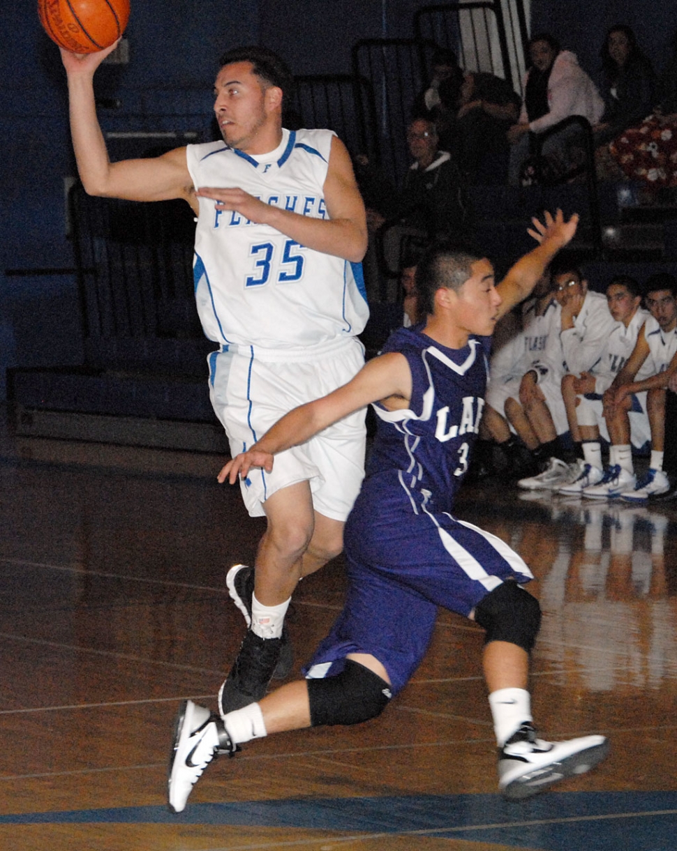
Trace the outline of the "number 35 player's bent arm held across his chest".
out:
M 353 163 L 341 140 L 331 140 L 329 168 L 324 179 L 324 203 L 329 219 L 313 219 L 262 202 L 243 189 L 200 186 L 198 196 L 213 198 L 216 209 L 235 210 L 256 224 L 270 225 L 297 243 L 358 263 L 367 250 L 364 203 L 353 174 Z

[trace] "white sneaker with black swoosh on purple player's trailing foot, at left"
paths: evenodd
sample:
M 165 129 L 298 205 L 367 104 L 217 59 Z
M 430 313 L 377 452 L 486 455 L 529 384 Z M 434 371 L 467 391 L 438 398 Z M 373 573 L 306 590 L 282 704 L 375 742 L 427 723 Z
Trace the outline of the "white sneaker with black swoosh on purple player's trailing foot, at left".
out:
M 221 753 L 232 754 L 233 745 L 221 718 L 192 700 L 184 700 L 176 716 L 174 747 L 169 755 L 167 793 L 169 809 L 181 813 L 192 787 L 209 762 Z

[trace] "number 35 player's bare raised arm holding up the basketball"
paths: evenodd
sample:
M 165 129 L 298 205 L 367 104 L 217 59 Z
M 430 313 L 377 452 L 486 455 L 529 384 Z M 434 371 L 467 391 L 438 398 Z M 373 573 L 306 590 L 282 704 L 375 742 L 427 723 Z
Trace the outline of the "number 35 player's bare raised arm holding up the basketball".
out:
M 162 157 L 123 160 L 120 163 L 111 163 L 108 158 L 106 141 L 96 116 L 94 75 L 117 44 L 86 55 L 61 49 L 61 60 L 68 78 L 73 150 L 84 189 L 89 195 L 132 201 L 182 197 L 196 208 L 184 148 L 169 151 Z

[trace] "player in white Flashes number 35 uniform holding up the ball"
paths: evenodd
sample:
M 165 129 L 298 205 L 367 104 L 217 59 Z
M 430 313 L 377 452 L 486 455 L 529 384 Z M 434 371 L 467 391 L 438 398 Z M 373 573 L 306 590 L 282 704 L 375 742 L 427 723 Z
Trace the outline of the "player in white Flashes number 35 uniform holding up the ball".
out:
M 234 49 L 215 79 L 222 141 L 111 163 L 95 111 L 96 68 L 115 45 L 62 51 L 77 168 L 90 195 L 183 198 L 198 216 L 195 287 L 215 412 L 233 456 L 279 417 L 323 396 L 364 363 L 356 334 L 368 317 L 359 261 L 364 204 L 345 146 L 328 130 L 282 127 L 292 77 L 272 51 Z M 303 575 L 342 549 L 364 468 L 364 414 L 332 426 L 256 473 L 242 492 L 267 517 L 255 572 L 228 573 L 247 631 L 221 689 L 224 711 L 259 700 L 280 661 L 284 614 Z

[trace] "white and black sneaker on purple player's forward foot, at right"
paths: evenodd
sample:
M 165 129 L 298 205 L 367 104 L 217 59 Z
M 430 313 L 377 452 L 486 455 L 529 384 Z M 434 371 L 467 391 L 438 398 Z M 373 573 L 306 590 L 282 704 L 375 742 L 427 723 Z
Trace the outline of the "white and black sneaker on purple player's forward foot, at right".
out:
M 605 736 L 547 742 L 536 738 L 531 724 L 522 724 L 498 752 L 499 791 L 511 801 L 531 797 L 559 780 L 585 774 L 608 752 Z

